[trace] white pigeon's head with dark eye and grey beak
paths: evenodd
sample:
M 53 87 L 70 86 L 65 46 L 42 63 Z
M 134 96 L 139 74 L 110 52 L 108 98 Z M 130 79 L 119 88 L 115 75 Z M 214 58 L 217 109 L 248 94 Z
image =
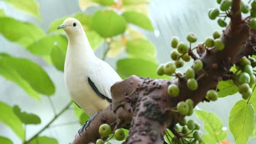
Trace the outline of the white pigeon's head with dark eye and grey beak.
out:
M 57 27 L 57 29 L 64 29 L 67 35 L 79 35 L 80 33 L 84 33 L 83 26 L 81 23 L 72 17 L 67 18 L 62 25 Z

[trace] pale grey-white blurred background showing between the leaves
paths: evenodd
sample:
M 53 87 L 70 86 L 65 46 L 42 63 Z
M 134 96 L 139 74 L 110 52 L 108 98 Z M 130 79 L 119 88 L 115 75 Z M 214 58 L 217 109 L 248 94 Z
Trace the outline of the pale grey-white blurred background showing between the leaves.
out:
M 81 12 L 78 6 L 78 0 L 37 1 L 39 3 L 40 14 L 42 15 L 42 21 L 37 21 L 36 18 L 21 13 L 10 5 L 4 3 L 2 0 L 0 0 L 0 8 L 3 8 L 7 15 L 15 17 L 15 19 L 35 23 L 37 26 L 42 27 L 45 32 L 47 32 L 50 23 L 55 19 Z M 216 21 L 212 21 L 207 17 L 208 9 L 217 7 L 216 1 L 152 0 L 151 2 L 152 3 L 149 5 L 150 19 L 152 20 L 155 32 L 140 30 L 158 49 L 159 63 L 170 61 L 169 53 L 172 50 L 170 47 L 170 39 L 173 35 L 177 35 L 181 40 L 185 40 L 185 37 L 187 37 L 189 32 L 194 32 L 198 36 L 197 41 L 200 42 L 212 35 L 214 30 L 222 30 L 217 25 Z M 90 8 L 86 13 L 92 14 L 95 9 L 96 8 Z M 17 57 L 30 58 L 47 71 L 56 87 L 56 93 L 53 95 L 52 99 L 57 112 L 59 112 L 69 101 L 63 73 L 56 70 L 53 65 L 46 64 L 42 58 L 31 55 L 31 53 L 26 51 L 24 47 L 11 43 L 1 34 L 0 44 L 0 52 L 6 52 Z M 102 57 L 102 47 L 96 51 L 96 55 L 100 58 Z M 124 53 L 121 56 L 124 56 Z M 117 58 L 107 58 L 106 61 L 115 68 L 116 59 Z M 181 69 L 181 71 L 183 70 L 184 69 Z M 4 101 L 11 106 L 19 105 L 22 107 L 22 110 L 30 113 L 37 113 L 41 118 L 41 124 L 27 127 L 26 139 L 30 139 L 31 136 L 37 133 L 37 131 L 44 127 L 44 125 L 54 117 L 48 98 L 42 95 L 41 99 L 42 100 L 40 101 L 31 99 L 13 82 L 7 81 L 0 76 L 0 101 Z M 240 95 L 232 95 L 219 99 L 214 103 L 200 103 L 197 108 L 216 113 L 222 119 L 223 127 L 228 127 L 229 112 L 231 111 L 232 106 L 234 106 L 240 99 Z M 191 118 L 196 119 L 195 115 L 191 116 Z M 78 119 L 75 118 L 73 111 L 68 110 L 58 118 L 53 125 L 74 122 L 73 124 L 49 128 L 45 130 L 41 136 L 55 137 L 59 143 L 69 143 L 74 139 L 75 133 L 77 133 L 80 128 L 77 121 Z M 197 119 L 196 121 L 200 122 Z M 203 126 L 201 125 L 201 127 Z M 8 137 L 14 143 L 21 143 L 20 139 L 13 133 L 13 131 L 2 123 L 0 123 L 0 135 Z M 228 140 L 235 143 L 230 132 L 228 133 Z M 251 139 L 248 143 L 256 143 L 256 139 Z

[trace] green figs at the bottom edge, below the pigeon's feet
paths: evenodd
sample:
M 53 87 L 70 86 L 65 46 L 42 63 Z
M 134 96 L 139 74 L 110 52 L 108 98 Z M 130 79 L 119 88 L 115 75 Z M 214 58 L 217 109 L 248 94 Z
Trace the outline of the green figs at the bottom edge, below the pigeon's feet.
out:
M 101 137 L 106 138 L 110 134 L 112 134 L 111 127 L 108 124 L 102 124 L 100 128 L 98 128 L 98 133 L 100 133 Z M 111 144 L 109 140 L 115 137 L 115 140 L 123 141 L 125 139 L 125 133 L 123 129 L 117 129 L 114 131 L 114 135 L 107 140 L 98 139 L 96 144 Z

